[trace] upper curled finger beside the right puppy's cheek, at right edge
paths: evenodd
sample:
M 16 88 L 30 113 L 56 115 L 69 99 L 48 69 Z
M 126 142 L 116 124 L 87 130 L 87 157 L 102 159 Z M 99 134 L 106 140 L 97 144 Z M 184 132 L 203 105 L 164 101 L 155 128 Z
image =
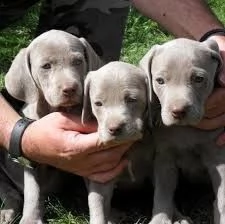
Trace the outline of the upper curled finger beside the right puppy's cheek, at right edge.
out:
M 225 105 L 223 104 L 224 100 L 225 88 L 215 89 L 207 100 L 205 116 L 213 118 L 223 114 L 225 112 Z

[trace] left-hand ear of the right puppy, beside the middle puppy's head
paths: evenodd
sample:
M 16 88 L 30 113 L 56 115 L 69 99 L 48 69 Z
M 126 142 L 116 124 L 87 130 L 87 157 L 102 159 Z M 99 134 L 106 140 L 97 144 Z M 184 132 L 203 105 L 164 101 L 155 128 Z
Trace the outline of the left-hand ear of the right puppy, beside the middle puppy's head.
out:
M 157 49 L 160 45 L 154 45 L 140 60 L 139 67 L 144 70 L 146 74 L 146 84 L 147 84 L 147 100 L 148 100 L 148 122 L 150 127 L 153 126 L 153 113 L 152 113 L 152 103 L 154 101 L 154 93 L 152 87 L 152 73 L 151 73 L 151 64 L 154 55 L 156 54 Z

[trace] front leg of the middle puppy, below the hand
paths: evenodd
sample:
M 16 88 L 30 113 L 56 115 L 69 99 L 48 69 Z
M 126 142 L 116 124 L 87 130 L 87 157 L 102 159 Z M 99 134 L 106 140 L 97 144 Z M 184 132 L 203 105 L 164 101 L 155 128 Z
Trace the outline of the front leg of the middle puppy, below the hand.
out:
M 88 181 L 87 185 L 90 224 L 110 223 L 109 216 L 114 181 L 110 181 L 106 184 Z

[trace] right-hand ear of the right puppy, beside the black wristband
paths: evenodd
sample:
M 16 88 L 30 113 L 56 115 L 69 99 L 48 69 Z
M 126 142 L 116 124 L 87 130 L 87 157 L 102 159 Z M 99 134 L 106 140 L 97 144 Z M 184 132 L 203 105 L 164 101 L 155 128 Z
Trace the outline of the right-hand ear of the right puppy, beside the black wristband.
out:
M 217 42 L 209 38 L 202 43 L 205 44 L 210 49 L 212 59 L 215 59 L 218 62 L 218 66 L 217 66 L 217 73 L 218 73 L 220 69 L 222 68 L 223 60 L 220 55 L 220 49 Z

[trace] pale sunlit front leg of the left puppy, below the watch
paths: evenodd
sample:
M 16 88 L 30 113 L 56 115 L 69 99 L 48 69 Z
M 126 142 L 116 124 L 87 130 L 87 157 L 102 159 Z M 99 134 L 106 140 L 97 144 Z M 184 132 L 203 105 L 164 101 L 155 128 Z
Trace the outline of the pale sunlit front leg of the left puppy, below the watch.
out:
M 39 170 L 24 169 L 24 207 L 20 224 L 43 224 L 44 200 L 41 198 L 43 195 L 39 183 Z

